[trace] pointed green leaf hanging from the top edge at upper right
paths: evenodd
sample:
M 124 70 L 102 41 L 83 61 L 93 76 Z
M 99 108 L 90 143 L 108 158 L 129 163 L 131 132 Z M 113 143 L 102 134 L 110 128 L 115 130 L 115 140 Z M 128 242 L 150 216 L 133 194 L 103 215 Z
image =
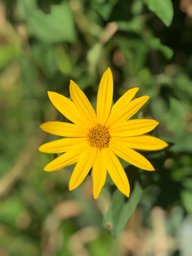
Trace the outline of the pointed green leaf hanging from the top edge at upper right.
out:
M 173 19 L 173 5 L 171 0 L 145 0 L 145 4 L 168 27 Z

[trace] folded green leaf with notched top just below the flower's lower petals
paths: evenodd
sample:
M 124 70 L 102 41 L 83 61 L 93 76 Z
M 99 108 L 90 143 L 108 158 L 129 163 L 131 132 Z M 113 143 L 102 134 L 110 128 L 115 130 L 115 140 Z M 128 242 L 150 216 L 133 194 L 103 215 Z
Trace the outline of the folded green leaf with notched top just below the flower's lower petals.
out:
M 106 226 L 111 228 L 113 237 L 118 236 L 131 218 L 142 194 L 141 185 L 136 182 L 130 197 L 125 201 L 125 196 L 117 189 L 112 196 L 109 209 L 104 216 Z

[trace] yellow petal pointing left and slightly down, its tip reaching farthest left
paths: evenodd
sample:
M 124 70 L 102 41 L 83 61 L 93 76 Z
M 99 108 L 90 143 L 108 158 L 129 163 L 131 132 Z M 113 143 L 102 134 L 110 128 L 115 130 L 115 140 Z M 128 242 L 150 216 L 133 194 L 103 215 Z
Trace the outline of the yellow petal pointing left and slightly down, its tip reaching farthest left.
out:
M 41 145 L 38 150 L 44 153 L 64 153 L 70 150 L 71 146 L 85 141 L 85 137 L 58 139 Z

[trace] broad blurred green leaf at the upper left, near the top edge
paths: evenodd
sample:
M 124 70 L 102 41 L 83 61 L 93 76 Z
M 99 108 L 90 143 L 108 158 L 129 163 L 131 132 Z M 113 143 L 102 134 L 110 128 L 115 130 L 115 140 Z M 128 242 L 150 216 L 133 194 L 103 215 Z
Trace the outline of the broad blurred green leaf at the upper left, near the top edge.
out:
M 46 43 L 59 43 L 76 41 L 74 19 L 67 2 L 53 5 L 50 14 L 41 10 L 31 12 L 26 7 L 27 23 L 33 34 Z

